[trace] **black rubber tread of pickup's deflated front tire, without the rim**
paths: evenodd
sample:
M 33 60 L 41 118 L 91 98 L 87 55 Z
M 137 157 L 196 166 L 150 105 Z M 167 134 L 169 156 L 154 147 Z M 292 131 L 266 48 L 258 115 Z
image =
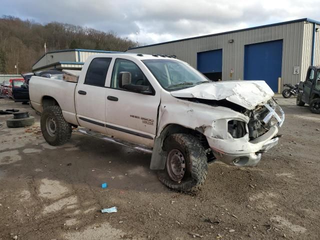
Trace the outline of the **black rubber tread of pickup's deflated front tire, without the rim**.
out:
M 201 188 L 208 172 L 207 157 L 199 140 L 189 134 L 171 134 L 163 144 L 165 151 L 178 149 L 184 156 L 186 171 L 183 178 L 176 182 L 168 174 L 167 168 L 158 172 L 159 180 L 166 186 L 178 191 L 196 191 Z

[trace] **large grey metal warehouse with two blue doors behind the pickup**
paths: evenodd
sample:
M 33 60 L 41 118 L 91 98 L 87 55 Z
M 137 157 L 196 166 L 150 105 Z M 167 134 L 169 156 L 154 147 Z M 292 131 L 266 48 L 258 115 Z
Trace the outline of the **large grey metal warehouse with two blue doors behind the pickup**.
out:
M 176 55 L 212 80 L 304 81 L 320 64 L 320 22 L 297 19 L 130 48 L 128 52 Z M 278 79 L 280 77 L 280 79 Z

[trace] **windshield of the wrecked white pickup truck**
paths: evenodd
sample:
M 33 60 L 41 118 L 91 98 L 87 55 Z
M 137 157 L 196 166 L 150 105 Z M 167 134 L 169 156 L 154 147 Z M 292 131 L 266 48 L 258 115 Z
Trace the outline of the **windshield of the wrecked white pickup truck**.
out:
M 160 85 L 168 90 L 178 90 L 210 82 L 208 78 L 190 65 L 173 59 L 142 60 Z

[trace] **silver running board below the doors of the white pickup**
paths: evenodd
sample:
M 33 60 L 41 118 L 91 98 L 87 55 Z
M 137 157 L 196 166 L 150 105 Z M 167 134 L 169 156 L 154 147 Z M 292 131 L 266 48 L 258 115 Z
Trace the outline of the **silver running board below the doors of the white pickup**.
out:
M 86 134 L 86 135 L 89 135 L 89 136 L 95 136 L 95 137 L 98 137 L 98 138 L 100 138 L 102 140 L 105 140 L 105 141 L 108 141 L 108 142 L 113 142 L 113 143 L 116 143 L 116 144 L 119 144 L 119 145 L 122 145 L 122 146 L 126 146 L 126 147 L 132 148 L 134 150 L 142 151 L 142 152 L 145 152 L 145 153 L 152 153 L 152 149 L 151 148 L 147 148 L 147 147 L 141 146 L 141 145 L 136 145 L 136 144 L 130 143 L 128 141 L 121 140 L 121 139 L 116 138 L 116 137 L 106 136 L 106 135 L 103 135 L 101 133 L 98 133 L 98 132 L 95 132 L 95 131 L 91 131 L 91 130 L 88 130 L 88 129 L 85 129 L 85 128 L 78 129 L 78 132 Z

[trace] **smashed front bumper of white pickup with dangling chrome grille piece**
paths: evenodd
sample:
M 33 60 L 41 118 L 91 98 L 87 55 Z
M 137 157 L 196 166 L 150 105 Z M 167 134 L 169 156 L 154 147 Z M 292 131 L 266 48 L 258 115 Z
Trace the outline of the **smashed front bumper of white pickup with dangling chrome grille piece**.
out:
M 260 161 L 261 153 L 278 143 L 276 134 L 278 128 L 283 124 L 284 112 L 278 105 L 274 108 L 268 105 L 267 108 L 269 113 L 263 121 L 267 122 L 273 116 L 277 120 L 277 124 L 270 127 L 263 135 L 251 141 L 248 141 L 247 135 L 228 139 L 207 138 L 217 160 L 234 166 L 254 166 Z M 275 112 L 275 108 L 281 112 L 281 117 Z

